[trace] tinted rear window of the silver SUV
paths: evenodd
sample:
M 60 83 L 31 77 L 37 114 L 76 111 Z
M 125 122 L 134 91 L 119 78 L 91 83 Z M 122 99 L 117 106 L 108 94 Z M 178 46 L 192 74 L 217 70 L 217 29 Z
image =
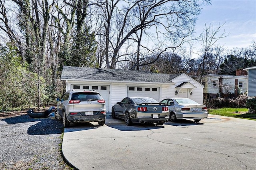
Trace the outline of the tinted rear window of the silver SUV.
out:
M 92 99 L 103 99 L 99 93 L 93 92 L 78 92 L 73 93 L 71 100 L 80 100 L 80 101 L 92 101 Z

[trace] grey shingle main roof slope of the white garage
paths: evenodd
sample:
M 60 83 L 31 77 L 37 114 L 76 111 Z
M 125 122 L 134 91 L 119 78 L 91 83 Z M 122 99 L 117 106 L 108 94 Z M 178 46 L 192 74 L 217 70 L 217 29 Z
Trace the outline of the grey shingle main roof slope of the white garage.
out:
M 63 66 L 60 79 L 173 83 L 171 80 L 180 74 L 169 75 L 162 73 L 152 73 L 150 71 Z

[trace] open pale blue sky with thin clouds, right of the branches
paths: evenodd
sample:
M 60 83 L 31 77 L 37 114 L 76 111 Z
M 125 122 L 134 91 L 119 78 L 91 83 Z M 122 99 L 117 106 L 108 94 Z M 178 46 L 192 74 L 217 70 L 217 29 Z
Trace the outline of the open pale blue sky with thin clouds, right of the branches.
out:
M 198 35 L 205 24 L 214 28 L 224 24 L 220 33 L 225 31 L 230 35 L 220 39 L 218 45 L 227 49 L 249 47 L 256 40 L 256 0 L 212 0 L 212 5 L 203 6 L 198 16 L 195 28 Z

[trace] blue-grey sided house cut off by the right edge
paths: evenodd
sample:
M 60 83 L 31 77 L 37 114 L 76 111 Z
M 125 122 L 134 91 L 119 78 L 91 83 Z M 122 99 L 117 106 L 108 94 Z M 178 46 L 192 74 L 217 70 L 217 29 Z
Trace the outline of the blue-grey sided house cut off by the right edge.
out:
M 256 66 L 244 70 L 248 72 L 248 99 L 256 98 Z

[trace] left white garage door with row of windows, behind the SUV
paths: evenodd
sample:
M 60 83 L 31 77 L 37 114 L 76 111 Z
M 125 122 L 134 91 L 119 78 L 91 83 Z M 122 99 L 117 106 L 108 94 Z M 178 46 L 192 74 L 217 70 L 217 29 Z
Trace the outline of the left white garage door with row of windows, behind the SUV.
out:
M 109 85 L 77 85 L 71 84 L 71 89 L 74 90 L 96 90 L 100 93 L 106 103 L 106 111 L 109 111 Z

